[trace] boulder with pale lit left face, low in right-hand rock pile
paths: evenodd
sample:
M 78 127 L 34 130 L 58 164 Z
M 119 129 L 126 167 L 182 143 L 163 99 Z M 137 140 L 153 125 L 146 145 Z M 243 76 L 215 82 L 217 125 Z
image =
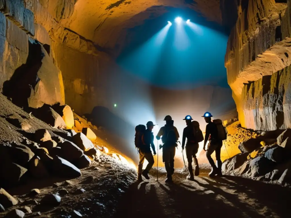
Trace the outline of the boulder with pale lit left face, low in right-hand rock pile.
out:
M 269 169 L 273 167 L 272 163 L 272 161 L 265 157 L 257 157 L 253 160 L 250 160 L 249 170 L 246 174 L 251 178 L 265 175 Z

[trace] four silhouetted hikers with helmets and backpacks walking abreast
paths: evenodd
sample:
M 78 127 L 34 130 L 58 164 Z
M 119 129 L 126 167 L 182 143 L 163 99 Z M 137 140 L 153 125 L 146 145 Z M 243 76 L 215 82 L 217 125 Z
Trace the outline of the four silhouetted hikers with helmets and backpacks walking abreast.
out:
M 188 180 L 194 180 L 194 175 L 199 175 L 199 165 L 198 160 L 196 158 L 196 154 L 199 148 L 199 142 L 204 140 L 203 150 L 206 151 L 206 157 L 212 167 L 211 172 L 209 173 L 210 177 L 215 175 L 222 176 L 221 173 L 221 159 L 220 159 L 220 151 L 222 147 L 223 140 L 226 140 L 227 130 L 223 126 L 222 121 L 220 119 L 211 120 L 211 113 L 205 112 L 202 116 L 205 119 L 206 131 L 205 131 L 205 139 L 203 137 L 203 133 L 199 128 L 199 123 L 197 121 L 193 121 L 190 115 L 185 117 L 186 127 L 183 131 L 182 137 L 182 150 L 186 149 L 186 156 L 188 160 L 188 169 L 189 175 L 187 176 Z M 172 182 L 172 175 L 174 173 L 174 157 L 176 147 L 178 147 L 178 139 L 179 133 L 177 128 L 174 126 L 174 121 L 170 115 L 167 115 L 164 119 L 166 121 L 165 126 L 162 126 L 156 136 L 157 140 L 160 140 L 162 137 L 163 145 L 159 146 L 159 149 L 163 148 L 163 162 L 165 164 L 167 178 L 165 180 L 166 183 Z M 152 129 L 155 124 L 152 121 L 148 121 L 146 127 L 144 125 L 138 125 L 135 128 L 135 146 L 138 148 L 139 153 L 139 167 L 138 167 L 138 180 L 142 180 L 142 176 L 146 179 L 150 179 L 148 173 L 152 166 L 154 165 L 154 157 L 152 155 L 152 151 L 154 155 L 156 155 L 155 145 L 154 145 L 154 134 L 152 133 Z M 187 138 L 187 142 L 185 145 L 185 141 Z M 207 146 L 207 150 L 205 149 L 207 141 L 209 144 Z M 152 148 L 152 151 L 150 150 Z M 211 154 L 215 151 L 216 156 L 216 165 L 211 158 Z M 144 159 L 148 161 L 148 165 L 143 170 L 143 162 Z M 193 174 L 192 161 L 194 162 L 195 169 Z

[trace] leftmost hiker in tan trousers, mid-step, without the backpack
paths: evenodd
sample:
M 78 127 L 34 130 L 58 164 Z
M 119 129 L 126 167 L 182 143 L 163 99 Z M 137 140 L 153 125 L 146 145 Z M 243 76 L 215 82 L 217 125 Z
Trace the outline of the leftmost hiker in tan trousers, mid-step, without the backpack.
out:
M 154 145 L 154 134 L 152 133 L 152 129 L 154 128 L 154 123 L 152 121 L 148 121 L 146 124 L 147 129 L 141 137 L 143 142 L 143 146 L 139 149 L 139 167 L 138 167 L 138 180 L 141 181 L 141 175 L 143 175 L 146 179 L 150 179 L 148 176 L 148 172 L 154 165 L 154 157 L 152 156 L 152 151 L 154 155 L 156 155 L 156 149 Z M 152 147 L 152 151 L 150 150 Z M 148 165 L 143 170 L 143 162 L 144 160 L 148 161 Z

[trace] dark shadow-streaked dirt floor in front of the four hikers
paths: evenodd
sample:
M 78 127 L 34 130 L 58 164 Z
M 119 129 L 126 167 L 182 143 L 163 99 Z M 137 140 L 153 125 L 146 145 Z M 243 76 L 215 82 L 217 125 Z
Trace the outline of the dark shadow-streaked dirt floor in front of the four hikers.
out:
M 152 171 L 151 179 L 135 182 L 123 196 L 114 217 L 290 217 L 287 187 L 245 178 L 209 178 L 207 172 L 185 179 L 175 172 L 174 183 L 165 173 Z

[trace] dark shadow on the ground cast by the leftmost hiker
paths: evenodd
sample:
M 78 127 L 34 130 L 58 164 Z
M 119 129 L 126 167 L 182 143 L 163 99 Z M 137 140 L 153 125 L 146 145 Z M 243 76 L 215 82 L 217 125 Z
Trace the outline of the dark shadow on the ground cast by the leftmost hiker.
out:
M 141 182 L 132 184 L 120 200 L 113 217 L 165 217 L 153 184 Z M 166 218 L 166 217 L 165 217 Z

